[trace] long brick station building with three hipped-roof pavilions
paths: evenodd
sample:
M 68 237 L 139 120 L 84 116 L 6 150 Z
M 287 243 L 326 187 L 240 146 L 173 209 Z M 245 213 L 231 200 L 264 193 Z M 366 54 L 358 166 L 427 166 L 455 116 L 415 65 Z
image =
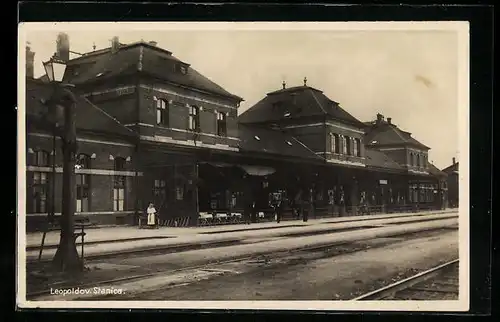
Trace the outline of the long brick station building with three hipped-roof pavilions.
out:
M 248 198 L 268 212 L 281 192 L 313 200 L 315 215 L 441 208 L 445 176 L 429 148 L 377 115 L 363 123 L 321 90 L 268 93 L 243 101 L 154 42 L 121 44 L 69 59 L 55 55 L 77 94 L 76 214 L 100 224 L 134 224 L 149 202 L 162 221 L 196 225 L 200 213 L 241 212 Z M 27 48 L 27 226 L 59 215 L 60 141 L 48 122 L 52 85 L 33 78 Z M 444 178 L 444 179 L 443 179 Z M 246 200 L 246 201 L 245 201 Z M 289 211 L 289 209 L 287 209 Z

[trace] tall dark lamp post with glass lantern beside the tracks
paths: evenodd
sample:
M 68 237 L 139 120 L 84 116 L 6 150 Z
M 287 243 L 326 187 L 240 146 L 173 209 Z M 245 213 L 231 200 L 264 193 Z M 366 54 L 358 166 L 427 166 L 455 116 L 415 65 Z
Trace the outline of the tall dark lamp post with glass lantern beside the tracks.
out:
M 81 270 L 81 260 L 78 257 L 75 244 L 74 214 L 75 201 L 75 164 L 76 164 L 76 98 L 68 87 L 63 84 L 63 76 L 66 64 L 56 58 L 51 58 L 43 63 L 49 82 L 54 84 L 54 94 L 50 98 L 49 106 L 52 109 L 54 121 L 62 121 L 62 131 L 59 133 L 62 139 L 63 153 L 63 184 L 62 184 L 62 212 L 61 212 L 61 235 L 56 254 L 53 258 L 54 267 L 59 271 Z M 62 110 L 62 120 L 59 120 Z M 58 129 L 54 124 L 54 131 Z

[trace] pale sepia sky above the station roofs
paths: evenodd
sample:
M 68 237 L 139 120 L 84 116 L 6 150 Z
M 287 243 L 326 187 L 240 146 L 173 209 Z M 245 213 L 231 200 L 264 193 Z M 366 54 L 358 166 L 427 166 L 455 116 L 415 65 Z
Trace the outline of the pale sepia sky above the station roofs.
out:
M 194 27 L 193 27 L 194 26 Z M 290 26 L 290 25 L 289 25 Z M 459 42 L 453 30 L 349 28 L 33 28 L 26 40 L 35 52 L 35 77 L 56 50 L 59 32 L 70 50 L 92 51 L 121 43 L 156 41 L 158 46 L 244 98 L 240 113 L 266 93 L 303 84 L 322 90 L 361 121 L 377 113 L 431 147 L 438 168 L 458 160 Z M 76 56 L 75 56 L 76 57 Z

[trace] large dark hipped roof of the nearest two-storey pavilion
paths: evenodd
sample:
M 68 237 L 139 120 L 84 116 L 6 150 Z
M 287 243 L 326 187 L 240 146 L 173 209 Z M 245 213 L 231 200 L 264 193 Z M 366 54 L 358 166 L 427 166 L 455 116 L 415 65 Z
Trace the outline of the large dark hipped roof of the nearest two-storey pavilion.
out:
M 145 42 L 122 45 L 116 52 L 106 48 L 72 59 L 68 62 L 65 79 L 82 84 L 136 73 L 236 101 L 243 100 L 200 74 L 190 64 L 172 56 L 171 52 Z

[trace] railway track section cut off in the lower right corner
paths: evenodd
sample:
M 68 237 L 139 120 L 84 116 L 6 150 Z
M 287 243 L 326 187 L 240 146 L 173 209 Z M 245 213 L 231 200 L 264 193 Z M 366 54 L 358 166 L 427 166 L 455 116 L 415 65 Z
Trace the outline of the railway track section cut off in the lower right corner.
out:
M 444 263 L 353 300 L 457 300 L 459 290 L 458 264 L 458 259 Z

